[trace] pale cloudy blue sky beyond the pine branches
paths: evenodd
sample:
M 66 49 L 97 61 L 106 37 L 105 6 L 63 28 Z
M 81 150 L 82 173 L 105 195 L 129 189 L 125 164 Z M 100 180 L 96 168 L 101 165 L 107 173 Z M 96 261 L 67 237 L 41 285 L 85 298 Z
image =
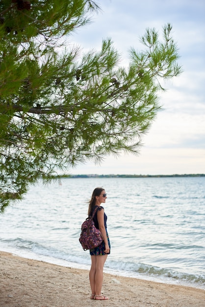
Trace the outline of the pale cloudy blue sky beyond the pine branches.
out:
M 70 174 L 173 175 L 205 174 L 205 1 L 102 0 L 102 12 L 79 28 L 70 42 L 84 51 L 99 50 L 110 37 L 128 63 L 128 50 L 143 50 L 139 41 L 146 28 L 159 33 L 170 23 L 179 48 L 183 73 L 159 93 L 163 106 L 139 155 L 106 156 L 103 163 L 80 164 Z

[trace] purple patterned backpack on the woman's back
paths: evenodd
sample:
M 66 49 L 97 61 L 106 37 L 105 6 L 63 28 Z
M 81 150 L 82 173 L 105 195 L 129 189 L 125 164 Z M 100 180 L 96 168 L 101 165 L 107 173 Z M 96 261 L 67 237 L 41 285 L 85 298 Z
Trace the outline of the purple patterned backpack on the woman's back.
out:
M 98 207 L 94 210 L 93 215 L 88 217 L 81 226 L 79 241 L 84 251 L 98 247 L 103 242 L 102 233 L 95 227 L 93 221 L 97 209 Z

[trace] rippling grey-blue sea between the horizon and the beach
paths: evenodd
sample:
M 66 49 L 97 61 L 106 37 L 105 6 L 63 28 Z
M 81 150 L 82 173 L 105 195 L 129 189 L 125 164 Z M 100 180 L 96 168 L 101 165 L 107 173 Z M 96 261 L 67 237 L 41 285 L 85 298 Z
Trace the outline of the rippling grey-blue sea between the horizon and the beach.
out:
M 39 182 L 0 215 L 0 250 L 89 270 L 78 239 L 95 187 L 107 193 L 104 272 L 205 289 L 205 177 Z

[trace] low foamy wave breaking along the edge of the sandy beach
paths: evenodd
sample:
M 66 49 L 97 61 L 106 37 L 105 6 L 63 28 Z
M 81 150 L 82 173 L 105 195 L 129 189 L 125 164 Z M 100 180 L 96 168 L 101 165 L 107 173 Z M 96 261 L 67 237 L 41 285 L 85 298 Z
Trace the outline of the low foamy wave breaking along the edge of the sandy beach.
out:
M 31 242 L 28 240 L 24 240 L 22 238 L 10 239 L 10 240 L 1 240 L 4 243 L 7 243 L 6 246 L 11 246 L 16 248 L 15 252 L 17 255 L 22 256 L 22 250 L 28 250 L 32 252 L 31 254 L 23 253 L 23 256 L 27 256 L 28 258 L 31 255 L 44 256 L 43 259 L 45 261 L 51 261 L 56 264 L 61 264 L 63 266 L 67 266 L 68 264 L 72 266 L 72 264 L 80 264 L 84 265 L 85 269 L 89 269 L 90 258 L 80 257 L 69 255 L 67 253 L 63 253 L 55 248 L 48 248 L 43 245 L 40 245 L 36 242 Z M 38 256 L 36 259 L 38 259 Z M 87 252 L 88 256 L 88 252 Z M 48 257 L 48 258 L 47 258 Z M 42 258 L 40 258 L 42 260 Z M 56 259 L 56 261 L 52 261 Z M 59 260 L 63 260 L 62 262 Z M 67 263 L 68 262 L 68 263 Z M 153 279 L 155 281 L 168 282 L 168 283 L 179 283 L 181 285 L 190 285 L 192 287 L 197 287 L 201 289 L 205 289 L 205 276 L 204 275 L 194 275 L 194 274 L 185 274 L 182 272 L 178 272 L 175 270 L 161 268 L 157 266 L 148 265 L 145 263 L 134 263 L 133 261 L 122 261 L 118 260 L 108 260 L 105 269 L 108 273 L 115 273 L 118 275 L 135 277 L 141 279 Z

